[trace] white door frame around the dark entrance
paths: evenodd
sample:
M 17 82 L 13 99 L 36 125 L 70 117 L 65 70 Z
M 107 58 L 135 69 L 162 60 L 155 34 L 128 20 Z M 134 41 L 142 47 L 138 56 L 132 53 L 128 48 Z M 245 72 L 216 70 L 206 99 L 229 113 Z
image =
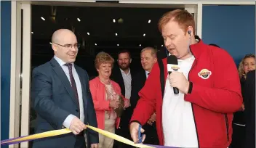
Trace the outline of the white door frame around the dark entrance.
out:
M 29 133 L 30 112 L 30 86 L 31 86 L 31 4 L 39 3 L 51 5 L 53 3 L 67 5 L 67 2 L 77 4 L 95 2 L 84 0 L 45 0 L 45 1 L 12 1 L 12 27 L 11 27 L 11 88 L 10 88 L 10 114 L 9 138 L 26 136 Z M 194 14 L 196 20 L 196 34 L 201 37 L 202 7 L 208 5 L 255 5 L 255 1 L 129 1 L 120 0 L 121 4 L 174 4 L 183 6 L 188 12 Z M 23 35 L 21 35 L 21 9 L 23 9 Z M 23 36 L 23 73 L 21 67 L 21 36 Z M 22 96 L 20 96 L 20 81 L 22 79 Z M 22 100 L 20 117 L 20 100 Z M 21 118 L 21 127 L 20 127 Z M 21 134 L 19 135 L 19 131 Z M 28 142 L 20 144 L 28 147 Z M 18 147 L 18 144 L 9 147 Z

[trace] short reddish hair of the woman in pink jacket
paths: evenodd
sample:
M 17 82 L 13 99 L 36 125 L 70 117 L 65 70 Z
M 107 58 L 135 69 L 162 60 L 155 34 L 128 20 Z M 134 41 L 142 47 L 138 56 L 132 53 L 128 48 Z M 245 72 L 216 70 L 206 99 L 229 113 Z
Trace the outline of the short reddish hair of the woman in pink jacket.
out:
M 96 57 L 95 57 L 95 67 L 98 69 L 101 64 L 103 63 L 110 63 L 111 67 L 113 68 L 113 62 L 114 59 L 109 55 L 108 53 L 105 52 L 99 52 Z

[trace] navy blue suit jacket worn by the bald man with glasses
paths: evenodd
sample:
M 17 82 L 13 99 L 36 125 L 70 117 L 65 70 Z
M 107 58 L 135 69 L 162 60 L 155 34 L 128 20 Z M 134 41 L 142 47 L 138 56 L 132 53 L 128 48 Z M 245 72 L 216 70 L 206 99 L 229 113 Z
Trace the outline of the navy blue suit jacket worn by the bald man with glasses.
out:
M 79 75 L 84 102 L 84 123 L 97 127 L 97 120 L 92 96 L 89 91 L 89 77 L 87 72 L 75 65 Z M 31 99 L 37 113 L 36 133 L 63 128 L 63 122 L 72 114 L 79 118 L 79 107 L 71 83 L 59 63 L 51 61 L 33 69 Z M 98 133 L 86 130 L 88 144 L 99 142 Z M 80 139 L 80 141 L 78 140 Z M 81 136 L 68 133 L 63 136 L 53 136 L 33 142 L 33 147 L 74 147 L 83 143 Z M 84 145 L 85 147 L 85 145 Z

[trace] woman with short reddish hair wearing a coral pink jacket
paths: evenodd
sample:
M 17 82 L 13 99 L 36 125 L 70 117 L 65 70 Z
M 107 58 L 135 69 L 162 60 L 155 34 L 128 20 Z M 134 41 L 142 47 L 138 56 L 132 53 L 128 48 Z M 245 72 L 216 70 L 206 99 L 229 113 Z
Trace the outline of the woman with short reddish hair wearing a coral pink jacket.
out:
M 113 62 L 114 60 L 109 54 L 98 53 L 95 58 L 95 67 L 99 76 L 89 81 L 89 89 L 97 116 L 97 127 L 111 133 L 115 133 L 115 127 L 119 127 L 120 118 L 114 110 L 119 107 L 119 95 L 121 95 L 119 84 L 109 78 Z M 126 107 L 129 107 L 129 99 L 124 98 L 124 109 Z M 99 147 L 113 147 L 113 139 L 101 134 L 99 139 Z

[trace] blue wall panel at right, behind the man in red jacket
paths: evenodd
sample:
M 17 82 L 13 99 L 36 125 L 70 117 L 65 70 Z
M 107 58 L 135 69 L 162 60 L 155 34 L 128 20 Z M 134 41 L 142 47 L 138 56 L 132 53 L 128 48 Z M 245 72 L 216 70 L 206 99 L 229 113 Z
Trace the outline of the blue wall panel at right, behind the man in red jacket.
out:
M 236 64 L 255 54 L 255 6 L 203 6 L 202 39 L 227 50 Z

